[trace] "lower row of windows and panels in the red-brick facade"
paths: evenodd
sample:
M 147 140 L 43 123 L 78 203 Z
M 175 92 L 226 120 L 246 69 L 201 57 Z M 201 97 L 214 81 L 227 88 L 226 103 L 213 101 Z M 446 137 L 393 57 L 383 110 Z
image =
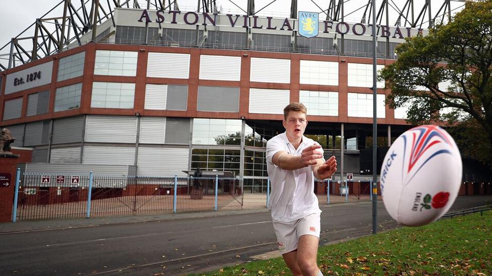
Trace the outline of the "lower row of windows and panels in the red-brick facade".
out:
M 54 112 L 80 107 L 82 83 L 56 89 Z M 348 93 L 349 117 L 373 116 L 373 95 Z M 93 82 L 91 108 L 134 108 L 135 83 Z M 21 117 L 23 98 L 5 101 L 3 120 Z M 287 89 L 250 88 L 249 112 L 283 114 L 289 104 Z M 308 115 L 338 116 L 338 93 L 334 91 L 299 91 L 299 101 L 307 107 Z M 385 95 L 378 94 L 377 117 L 386 117 Z M 28 96 L 27 116 L 48 112 L 49 93 L 43 91 Z M 148 110 L 181 110 L 188 105 L 188 85 L 147 84 L 144 108 Z M 404 119 L 408 107 L 395 110 L 396 119 Z M 198 111 L 239 112 L 239 87 L 199 86 Z

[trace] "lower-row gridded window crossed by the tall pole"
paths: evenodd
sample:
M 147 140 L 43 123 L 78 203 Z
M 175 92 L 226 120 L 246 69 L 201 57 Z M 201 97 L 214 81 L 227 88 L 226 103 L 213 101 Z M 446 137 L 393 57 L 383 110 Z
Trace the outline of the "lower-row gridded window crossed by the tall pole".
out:
M 373 118 L 373 95 L 363 93 L 348 93 L 348 116 Z M 385 95 L 377 96 L 377 118 L 385 118 Z

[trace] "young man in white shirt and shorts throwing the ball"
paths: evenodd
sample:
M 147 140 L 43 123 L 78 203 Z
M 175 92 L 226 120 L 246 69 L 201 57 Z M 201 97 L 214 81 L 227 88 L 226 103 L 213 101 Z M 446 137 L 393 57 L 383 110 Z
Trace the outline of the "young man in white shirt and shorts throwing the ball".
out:
M 267 142 L 267 169 L 272 183 L 272 210 L 278 249 L 294 276 L 323 275 L 317 264 L 320 239 L 314 177 L 325 179 L 337 170 L 335 156 L 325 161 L 320 144 L 305 136 L 307 109 L 291 103 L 284 109 L 285 132 Z

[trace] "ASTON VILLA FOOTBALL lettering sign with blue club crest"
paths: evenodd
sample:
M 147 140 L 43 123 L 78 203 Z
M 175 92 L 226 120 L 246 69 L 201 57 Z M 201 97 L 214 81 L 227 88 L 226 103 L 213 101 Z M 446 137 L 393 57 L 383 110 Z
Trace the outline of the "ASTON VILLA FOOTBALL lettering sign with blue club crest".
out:
M 179 18 L 178 18 L 179 15 Z M 169 24 L 187 24 L 187 25 L 203 25 L 203 26 L 216 26 L 218 14 L 210 14 L 210 13 L 195 13 L 195 12 L 186 12 L 181 14 L 181 11 L 163 11 L 159 10 L 155 13 L 156 18 L 151 18 L 149 12 L 147 10 L 142 10 L 142 14 L 138 19 L 139 22 L 145 23 L 169 23 Z M 222 15 L 221 15 L 222 16 Z M 266 29 L 266 30 L 287 30 L 293 31 L 296 19 L 273 19 L 273 17 L 260 18 L 258 16 L 248 17 L 247 15 L 225 15 L 228 20 L 226 20 L 227 27 L 242 27 L 242 28 L 252 28 L 252 29 Z M 178 20 L 179 19 L 179 20 Z M 201 21 L 200 21 L 201 19 Z M 260 19 L 260 20 L 259 20 Z M 266 22 L 265 22 L 266 19 Z M 299 12 L 299 32 L 300 35 L 305 36 L 307 38 L 316 37 L 318 35 L 318 28 L 321 26 L 323 29 L 323 33 L 337 33 L 341 35 L 352 34 L 356 36 L 362 35 L 372 35 L 372 24 L 362 24 L 355 23 L 349 24 L 346 22 L 336 22 L 336 21 L 319 21 L 318 13 L 309 13 L 309 12 Z M 178 22 L 179 21 L 179 22 Z M 200 21 L 200 22 L 199 22 Z M 275 25 L 275 22 L 282 22 L 281 26 Z M 261 22 L 265 22 L 263 25 Z M 318 25 L 316 24 L 318 22 Z M 220 25 L 224 26 L 224 25 Z M 280 26 L 280 27 L 279 27 Z M 402 27 L 395 26 L 390 27 L 387 25 L 377 25 L 378 34 L 381 37 L 391 37 L 391 38 L 399 38 L 403 39 L 404 37 L 410 37 L 412 28 L 410 27 Z M 421 33 L 422 29 L 418 29 L 417 33 Z

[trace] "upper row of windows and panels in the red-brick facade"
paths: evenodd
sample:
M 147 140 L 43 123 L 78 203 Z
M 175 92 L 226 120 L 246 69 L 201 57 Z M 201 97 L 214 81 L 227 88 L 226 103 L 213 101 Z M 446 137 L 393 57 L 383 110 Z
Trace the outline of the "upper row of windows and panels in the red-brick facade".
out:
M 84 60 L 85 52 L 60 58 L 57 81 L 82 76 L 84 73 Z M 138 52 L 97 50 L 94 63 L 94 74 L 136 76 L 137 60 Z M 49 64 L 46 63 L 44 65 L 48 66 Z M 50 81 L 50 76 L 45 76 L 47 69 L 44 67 L 39 67 L 39 77 L 43 77 L 43 79 L 45 78 Z M 383 65 L 378 65 L 378 69 L 381 68 L 383 68 Z M 15 74 L 24 76 L 24 71 L 29 73 L 32 69 L 33 68 L 28 68 L 16 72 Z M 46 72 L 43 70 L 46 70 Z M 373 71 L 371 64 L 349 63 L 348 70 L 349 86 L 372 86 Z M 188 79 L 189 71 L 190 54 L 149 53 L 147 77 Z M 290 83 L 290 59 L 251 58 L 250 71 L 250 81 Z M 51 72 L 49 72 L 49 74 L 50 73 Z M 214 55 L 200 56 L 200 79 L 239 81 L 240 74 L 241 57 Z M 299 81 L 302 84 L 336 86 L 338 85 L 338 77 L 338 62 L 313 60 L 300 61 Z M 42 83 L 44 84 L 44 82 Z M 41 82 L 29 84 L 29 86 L 25 87 L 19 85 L 16 87 L 8 87 L 6 89 L 6 94 L 20 91 L 19 89 L 22 90 L 35 87 L 40 84 Z M 22 85 L 26 84 L 22 83 Z M 384 87 L 384 82 L 379 82 L 378 87 Z

